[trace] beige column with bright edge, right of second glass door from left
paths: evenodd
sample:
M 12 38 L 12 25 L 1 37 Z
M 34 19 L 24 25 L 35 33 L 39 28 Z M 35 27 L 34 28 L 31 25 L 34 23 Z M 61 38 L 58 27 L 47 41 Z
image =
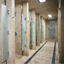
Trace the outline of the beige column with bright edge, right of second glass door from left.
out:
M 29 46 L 30 46 L 30 21 L 29 21 L 29 3 L 28 1 L 23 2 L 23 14 L 26 17 L 26 50 L 24 55 L 29 55 Z

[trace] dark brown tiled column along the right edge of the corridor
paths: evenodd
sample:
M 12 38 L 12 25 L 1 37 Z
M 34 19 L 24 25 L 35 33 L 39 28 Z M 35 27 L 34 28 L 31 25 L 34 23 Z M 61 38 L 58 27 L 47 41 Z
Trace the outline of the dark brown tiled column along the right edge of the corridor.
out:
M 59 62 L 64 63 L 64 4 L 63 0 L 58 0 L 58 47 Z

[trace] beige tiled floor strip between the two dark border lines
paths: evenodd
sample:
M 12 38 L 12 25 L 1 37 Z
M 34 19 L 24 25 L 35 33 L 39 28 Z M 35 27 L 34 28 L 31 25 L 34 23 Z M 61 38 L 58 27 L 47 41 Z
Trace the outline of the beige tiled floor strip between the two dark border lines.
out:
M 37 53 L 37 55 L 29 62 L 29 64 L 51 64 L 54 43 L 47 44 Z

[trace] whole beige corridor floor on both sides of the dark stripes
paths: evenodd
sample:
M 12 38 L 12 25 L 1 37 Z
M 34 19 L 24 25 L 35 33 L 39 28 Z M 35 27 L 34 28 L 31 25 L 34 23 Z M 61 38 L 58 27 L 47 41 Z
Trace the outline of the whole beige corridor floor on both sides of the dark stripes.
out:
M 54 42 L 47 42 L 44 47 L 31 59 L 28 64 L 52 64 Z M 37 47 L 38 48 L 38 47 Z M 56 61 L 58 63 L 58 44 L 56 43 Z M 34 53 L 35 50 L 30 51 L 30 56 Z M 16 64 L 24 64 L 27 60 L 27 56 L 16 57 Z

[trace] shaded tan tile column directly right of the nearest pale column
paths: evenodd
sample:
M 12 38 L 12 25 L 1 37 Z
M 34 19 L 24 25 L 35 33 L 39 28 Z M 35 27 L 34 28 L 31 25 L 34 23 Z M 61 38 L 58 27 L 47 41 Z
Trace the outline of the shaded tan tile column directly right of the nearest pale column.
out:
M 15 43 L 16 53 L 21 55 L 21 0 L 15 1 Z

